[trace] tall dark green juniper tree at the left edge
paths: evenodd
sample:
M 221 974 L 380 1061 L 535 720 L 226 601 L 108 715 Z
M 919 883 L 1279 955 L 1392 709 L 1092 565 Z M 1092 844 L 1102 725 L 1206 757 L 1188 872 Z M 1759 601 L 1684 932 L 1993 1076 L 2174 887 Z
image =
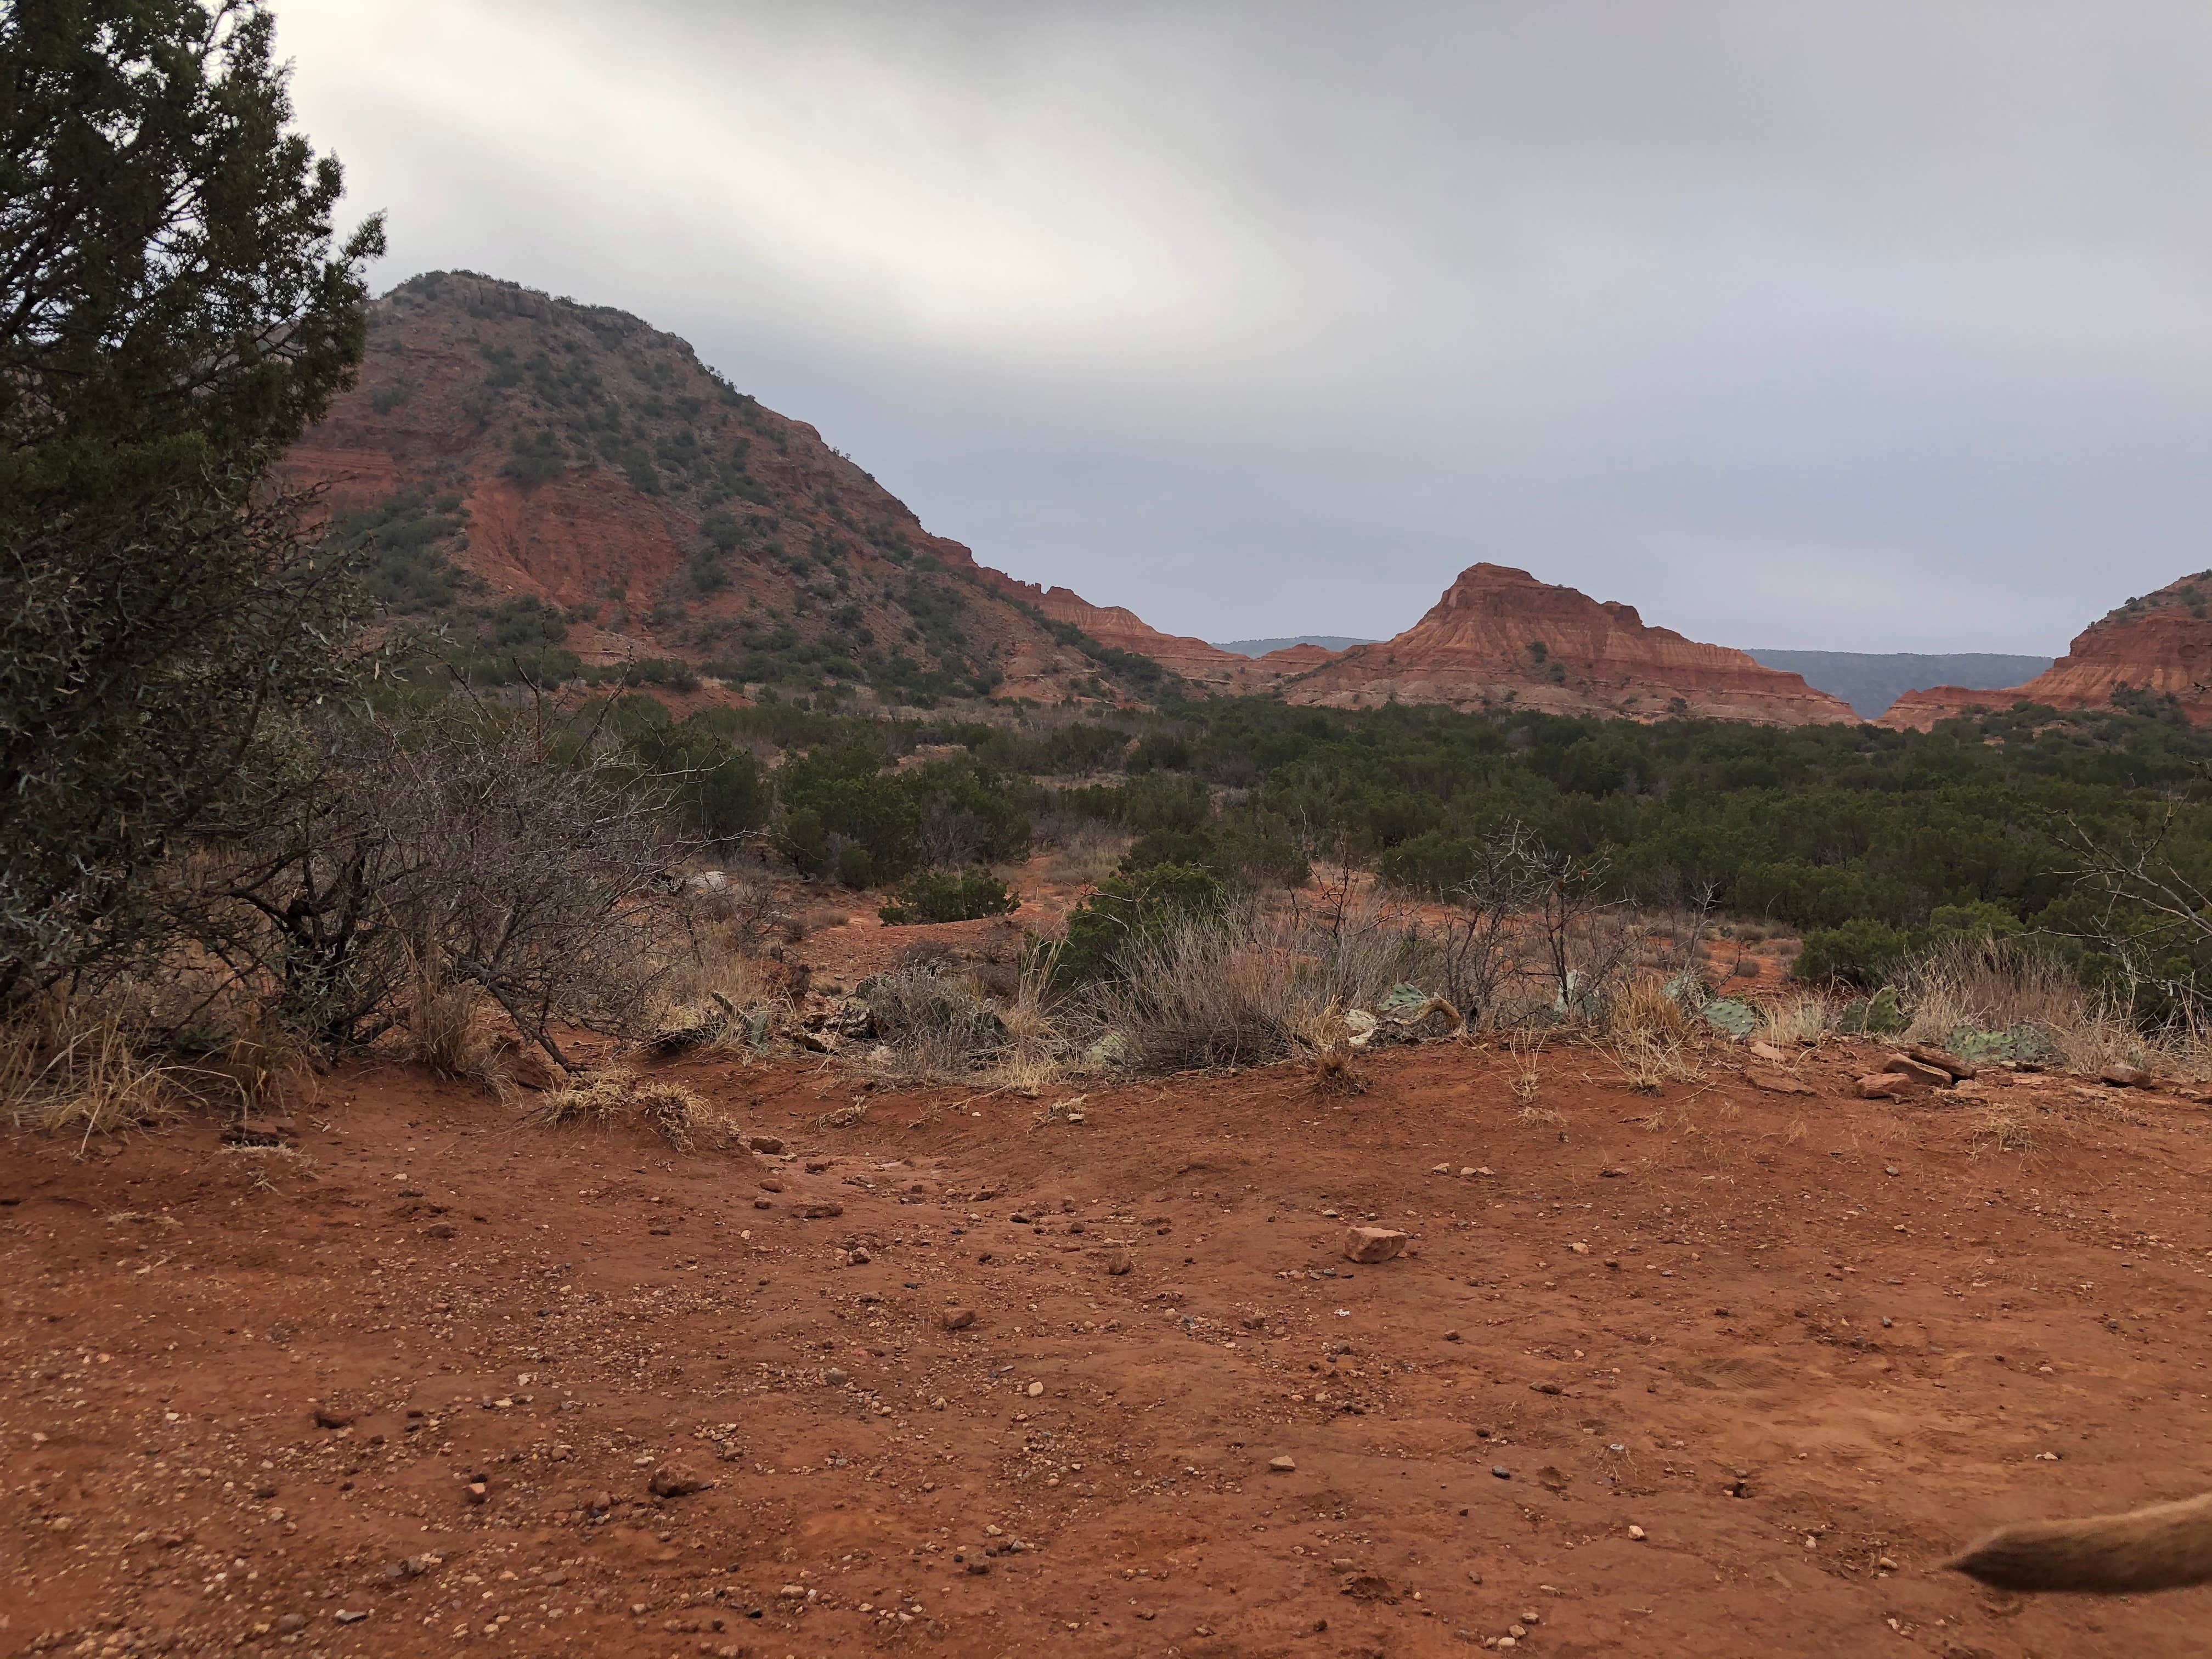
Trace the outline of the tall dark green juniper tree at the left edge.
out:
M 148 876 L 338 684 L 274 482 L 363 352 L 338 195 L 259 0 L 0 4 L 0 1002 L 157 942 Z

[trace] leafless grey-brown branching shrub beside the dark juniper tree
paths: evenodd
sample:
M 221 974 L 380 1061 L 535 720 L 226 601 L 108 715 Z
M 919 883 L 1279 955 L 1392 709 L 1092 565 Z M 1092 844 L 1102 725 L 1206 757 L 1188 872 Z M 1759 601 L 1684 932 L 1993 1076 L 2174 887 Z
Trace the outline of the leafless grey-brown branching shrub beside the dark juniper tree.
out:
M 555 1022 L 635 1026 L 666 975 L 653 891 L 666 799 L 613 754 L 560 754 L 447 708 L 323 732 L 310 787 L 204 869 L 212 947 L 321 1042 L 387 1031 L 418 962 L 478 987 L 566 1066 Z M 425 1004 L 431 1013 L 431 1004 Z

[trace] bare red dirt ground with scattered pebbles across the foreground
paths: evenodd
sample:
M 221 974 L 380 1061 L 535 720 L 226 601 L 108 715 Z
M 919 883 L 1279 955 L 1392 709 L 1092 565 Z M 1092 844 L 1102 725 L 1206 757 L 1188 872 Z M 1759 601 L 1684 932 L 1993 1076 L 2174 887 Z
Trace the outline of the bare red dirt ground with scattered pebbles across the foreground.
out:
M 303 1157 L 0 1141 L 0 1650 L 2203 1652 L 2208 1593 L 1938 1562 L 2212 1486 L 2205 1110 L 1865 1060 L 1555 1048 L 1524 1113 L 1438 1044 L 1042 1126 L 670 1068 L 792 1159 L 383 1068 Z

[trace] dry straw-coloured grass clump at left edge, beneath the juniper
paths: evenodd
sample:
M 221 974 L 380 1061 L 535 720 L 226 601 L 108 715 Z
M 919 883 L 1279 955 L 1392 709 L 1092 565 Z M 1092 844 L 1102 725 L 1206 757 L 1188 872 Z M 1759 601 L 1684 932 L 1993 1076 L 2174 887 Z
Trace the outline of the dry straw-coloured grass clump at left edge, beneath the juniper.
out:
M 153 1060 L 144 1024 L 117 1000 L 44 998 L 0 1029 L 0 1108 L 15 1128 L 84 1141 L 157 1121 L 177 1066 Z

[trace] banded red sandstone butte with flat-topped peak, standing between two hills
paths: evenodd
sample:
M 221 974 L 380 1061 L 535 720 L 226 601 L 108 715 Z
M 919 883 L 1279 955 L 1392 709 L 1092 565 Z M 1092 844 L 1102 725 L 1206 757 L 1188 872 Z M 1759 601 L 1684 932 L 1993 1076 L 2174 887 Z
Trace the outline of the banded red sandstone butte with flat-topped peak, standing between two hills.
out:
M 1285 653 L 1274 653 L 1285 655 Z M 1294 703 L 1533 708 L 1548 714 L 1692 714 L 1765 726 L 1858 723 L 1849 703 L 1741 650 L 1650 628 L 1526 571 L 1473 564 L 1420 622 L 1290 679 Z

